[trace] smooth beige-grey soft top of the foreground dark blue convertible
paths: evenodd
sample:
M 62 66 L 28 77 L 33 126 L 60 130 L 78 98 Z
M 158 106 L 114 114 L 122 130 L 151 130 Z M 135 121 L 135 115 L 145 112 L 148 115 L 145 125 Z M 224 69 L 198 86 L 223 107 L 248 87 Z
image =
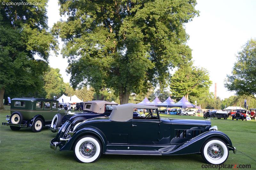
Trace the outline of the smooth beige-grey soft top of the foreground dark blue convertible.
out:
M 157 107 L 154 106 L 145 106 L 140 104 L 121 104 L 118 106 L 112 106 L 112 112 L 109 116 L 110 120 L 117 121 L 117 122 L 126 122 L 128 120 L 131 120 L 133 117 L 133 109 L 157 109 Z

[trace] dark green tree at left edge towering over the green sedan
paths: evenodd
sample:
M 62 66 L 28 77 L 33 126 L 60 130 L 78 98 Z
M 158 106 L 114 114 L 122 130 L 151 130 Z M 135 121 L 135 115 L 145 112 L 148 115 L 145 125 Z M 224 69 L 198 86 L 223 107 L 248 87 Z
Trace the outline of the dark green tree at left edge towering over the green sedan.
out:
M 40 2 L 36 6 L 3 5 L 1 2 L 0 109 L 3 109 L 5 91 L 13 97 L 34 96 L 44 85 L 47 59 L 56 41 L 47 32 L 47 0 Z M 35 54 L 41 60 L 36 60 Z

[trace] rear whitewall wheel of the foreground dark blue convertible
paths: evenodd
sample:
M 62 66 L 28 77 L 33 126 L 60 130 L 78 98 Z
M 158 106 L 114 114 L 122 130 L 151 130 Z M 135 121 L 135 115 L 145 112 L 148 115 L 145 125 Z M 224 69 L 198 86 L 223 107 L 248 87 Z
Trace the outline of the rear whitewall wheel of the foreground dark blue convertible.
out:
M 74 155 L 81 163 L 95 162 L 100 158 L 101 148 L 99 139 L 91 135 L 83 136 L 76 140 Z

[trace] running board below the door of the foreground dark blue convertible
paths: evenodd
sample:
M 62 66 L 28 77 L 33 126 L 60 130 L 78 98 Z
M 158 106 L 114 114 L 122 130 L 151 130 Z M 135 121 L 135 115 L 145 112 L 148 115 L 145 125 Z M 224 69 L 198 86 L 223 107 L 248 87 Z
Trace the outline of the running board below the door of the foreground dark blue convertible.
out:
M 117 155 L 162 155 L 159 151 L 138 151 L 138 150 L 107 150 L 105 154 Z

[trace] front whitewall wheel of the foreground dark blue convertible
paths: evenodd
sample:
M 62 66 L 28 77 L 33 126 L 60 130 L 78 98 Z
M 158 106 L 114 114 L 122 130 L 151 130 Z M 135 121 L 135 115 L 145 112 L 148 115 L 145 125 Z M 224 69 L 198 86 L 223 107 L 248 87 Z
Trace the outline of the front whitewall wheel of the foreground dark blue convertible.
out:
M 219 139 L 212 138 L 207 140 L 202 147 L 202 157 L 209 163 L 219 165 L 228 159 L 229 151 L 227 144 Z

